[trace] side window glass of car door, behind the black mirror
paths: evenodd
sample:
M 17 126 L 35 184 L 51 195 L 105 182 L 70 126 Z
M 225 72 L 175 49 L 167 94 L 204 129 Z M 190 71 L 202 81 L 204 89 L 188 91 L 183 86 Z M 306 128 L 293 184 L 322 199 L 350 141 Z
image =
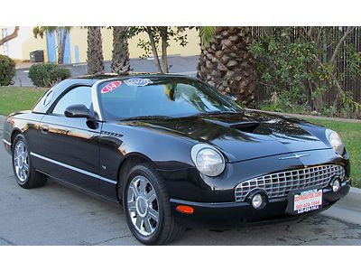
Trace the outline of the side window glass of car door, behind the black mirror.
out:
M 72 105 L 84 105 L 90 108 L 91 88 L 82 86 L 69 90 L 68 93 L 66 93 L 62 98 L 60 98 L 60 100 L 52 110 L 52 114 L 64 115 L 65 109 Z

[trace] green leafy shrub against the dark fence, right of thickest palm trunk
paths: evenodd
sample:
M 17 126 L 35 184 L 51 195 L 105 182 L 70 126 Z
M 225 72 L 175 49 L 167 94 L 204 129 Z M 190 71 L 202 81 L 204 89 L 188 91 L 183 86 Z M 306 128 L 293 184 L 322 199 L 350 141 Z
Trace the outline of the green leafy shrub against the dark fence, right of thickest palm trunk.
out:
M 319 72 L 313 65 L 312 57 L 317 54 L 314 43 L 301 40 L 290 42 L 286 37 L 270 36 L 255 40 L 249 50 L 257 61 L 261 89 L 268 95 L 277 93 L 280 99 L 291 105 L 307 102 L 306 94 L 309 93 L 305 89 Z

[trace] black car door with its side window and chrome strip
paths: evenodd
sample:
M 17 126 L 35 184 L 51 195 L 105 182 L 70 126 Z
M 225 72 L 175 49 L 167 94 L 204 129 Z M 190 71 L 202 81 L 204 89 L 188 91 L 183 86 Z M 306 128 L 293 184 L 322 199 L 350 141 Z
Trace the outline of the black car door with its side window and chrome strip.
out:
M 85 117 L 65 117 L 66 108 L 77 104 L 93 107 L 91 87 L 74 87 L 55 101 L 42 118 L 39 154 L 35 155 L 45 161 L 45 173 L 98 192 L 101 124 Z

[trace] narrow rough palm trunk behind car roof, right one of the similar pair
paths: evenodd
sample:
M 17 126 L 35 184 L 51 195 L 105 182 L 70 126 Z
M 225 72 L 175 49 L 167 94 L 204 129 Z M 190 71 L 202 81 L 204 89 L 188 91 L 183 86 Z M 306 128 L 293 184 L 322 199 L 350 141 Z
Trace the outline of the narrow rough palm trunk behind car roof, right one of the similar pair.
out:
M 130 70 L 127 33 L 126 26 L 113 27 L 112 71 L 116 73 Z

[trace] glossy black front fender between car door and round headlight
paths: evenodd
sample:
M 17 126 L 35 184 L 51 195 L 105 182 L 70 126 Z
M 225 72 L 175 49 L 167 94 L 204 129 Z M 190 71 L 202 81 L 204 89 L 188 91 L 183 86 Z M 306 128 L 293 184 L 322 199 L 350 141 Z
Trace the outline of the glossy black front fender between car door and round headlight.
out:
M 116 180 L 120 165 L 131 155 L 143 157 L 167 179 L 167 173 L 195 168 L 190 150 L 195 144 L 185 137 L 137 126 L 103 124 L 100 135 L 101 175 Z

